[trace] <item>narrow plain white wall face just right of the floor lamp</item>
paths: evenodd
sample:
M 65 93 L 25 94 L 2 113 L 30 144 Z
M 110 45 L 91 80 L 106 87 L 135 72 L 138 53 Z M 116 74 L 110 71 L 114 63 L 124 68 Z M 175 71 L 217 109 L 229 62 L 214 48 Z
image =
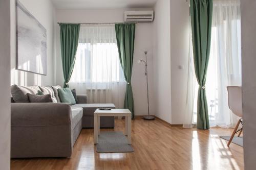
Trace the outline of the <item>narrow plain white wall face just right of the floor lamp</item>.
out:
M 170 1 L 155 5 L 154 25 L 154 90 L 156 116 L 172 123 L 170 89 Z

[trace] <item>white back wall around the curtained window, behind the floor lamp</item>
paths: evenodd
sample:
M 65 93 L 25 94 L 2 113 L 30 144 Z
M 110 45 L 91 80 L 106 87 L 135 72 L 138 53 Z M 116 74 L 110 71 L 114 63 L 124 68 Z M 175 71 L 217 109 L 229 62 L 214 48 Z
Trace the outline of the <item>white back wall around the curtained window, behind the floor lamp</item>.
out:
M 85 9 L 85 10 L 56 10 L 57 22 L 123 22 L 125 9 Z M 55 84 L 63 84 L 63 73 L 61 65 L 61 53 L 59 42 L 59 26 L 55 25 L 56 31 L 56 80 Z M 153 93 L 153 23 L 137 23 L 135 31 L 135 49 L 132 73 L 132 87 L 135 104 L 135 115 L 147 114 L 146 80 L 144 66 L 137 60 L 144 58 L 144 51 L 148 51 L 148 84 L 150 95 L 150 111 L 155 114 L 155 100 Z

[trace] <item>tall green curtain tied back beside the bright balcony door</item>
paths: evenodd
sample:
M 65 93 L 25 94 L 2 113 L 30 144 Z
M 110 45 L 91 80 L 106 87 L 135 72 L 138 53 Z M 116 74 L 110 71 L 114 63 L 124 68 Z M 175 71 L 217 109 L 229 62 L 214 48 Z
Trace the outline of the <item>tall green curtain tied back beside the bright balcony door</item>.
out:
M 190 15 L 195 72 L 199 84 L 197 128 L 209 129 L 205 82 L 210 55 L 212 0 L 190 0 Z

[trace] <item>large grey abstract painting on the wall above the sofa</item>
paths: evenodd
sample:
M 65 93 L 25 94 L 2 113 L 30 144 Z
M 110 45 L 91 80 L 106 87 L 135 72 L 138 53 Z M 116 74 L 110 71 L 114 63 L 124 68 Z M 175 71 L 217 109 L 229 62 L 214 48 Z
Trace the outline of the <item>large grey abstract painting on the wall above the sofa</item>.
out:
M 46 29 L 16 1 L 16 68 L 47 75 Z

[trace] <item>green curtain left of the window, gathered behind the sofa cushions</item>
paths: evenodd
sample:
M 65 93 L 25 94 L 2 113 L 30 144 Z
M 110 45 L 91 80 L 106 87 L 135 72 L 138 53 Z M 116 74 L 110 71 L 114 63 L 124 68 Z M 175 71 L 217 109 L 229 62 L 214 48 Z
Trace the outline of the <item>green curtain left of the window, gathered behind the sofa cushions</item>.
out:
M 65 79 L 63 87 L 69 87 L 68 83 L 76 60 L 80 24 L 60 23 L 59 27 L 62 70 Z

